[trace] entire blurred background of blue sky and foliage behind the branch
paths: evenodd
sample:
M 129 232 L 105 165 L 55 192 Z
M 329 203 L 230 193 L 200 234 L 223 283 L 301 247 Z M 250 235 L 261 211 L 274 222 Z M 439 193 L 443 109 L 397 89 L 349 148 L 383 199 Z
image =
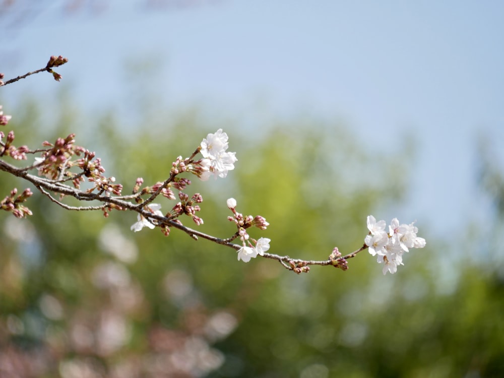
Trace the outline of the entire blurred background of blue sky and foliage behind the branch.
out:
M 0 217 L 0 376 L 501 376 L 503 16 L 499 2 L 0 3 L 6 79 L 69 58 L 61 83 L 0 88 L 18 144 L 74 132 L 127 193 L 223 128 L 236 169 L 188 191 L 202 231 L 232 234 L 234 197 L 280 255 L 354 250 L 368 214 L 427 239 L 396 275 L 363 254 L 297 276 L 35 195 L 29 219 Z M 3 175 L 0 193 L 14 186 Z

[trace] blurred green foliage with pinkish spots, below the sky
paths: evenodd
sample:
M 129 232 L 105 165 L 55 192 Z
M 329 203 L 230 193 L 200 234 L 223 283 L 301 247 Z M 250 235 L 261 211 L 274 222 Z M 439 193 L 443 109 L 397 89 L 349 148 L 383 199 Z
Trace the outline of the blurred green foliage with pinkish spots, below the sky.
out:
M 194 109 L 163 122 L 146 115 L 141 129 L 113 115 L 83 128 L 77 109 L 62 108 L 71 111 L 53 128 L 40 127 L 33 102 L 11 111 L 16 142 L 35 148 L 75 132 L 78 145 L 103 157 L 124 194 L 138 176 L 146 184 L 165 179 L 176 156 L 190 155 L 217 129 Z M 335 245 L 343 253 L 362 245 L 366 216 L 381 218 L 376 211 L 397 206 L 407 191 L 406 151 L 363 151 L 338 122 L 224 131 L 237 151 L 236 169 L 223 180 L 194 180 L 185 191 L 203 195 L 198 229 L 215 236 L 234 232 L 225 205 L 234 197 L 239 212 L 270 222 L 251 236 L 271 238 L 272 253 L 324 260 Z M 0 193 L 14 186 L 25 183 L 3 174 Z M 164 211 L 174 205 L 163 201 Z M 28 206 L 29 219 L 0 218 L 2 377 L 504 372 L 504 277 L 467 260 L 469 251 L 453 239 L 429 238 L 421 220 L 427 247 L 406 255 L 396 275 L 384 277 L 362 253 L 346 272 L 312 267 L 297 276 L 275 261 L 238 262 L 234 250 L 175 229 L 169 237 L 158 229 L 133 233 L 134 214 L 68 212 L 39 193 Z M 438 264 L 446 248 L 460 248 L 448 268 Z

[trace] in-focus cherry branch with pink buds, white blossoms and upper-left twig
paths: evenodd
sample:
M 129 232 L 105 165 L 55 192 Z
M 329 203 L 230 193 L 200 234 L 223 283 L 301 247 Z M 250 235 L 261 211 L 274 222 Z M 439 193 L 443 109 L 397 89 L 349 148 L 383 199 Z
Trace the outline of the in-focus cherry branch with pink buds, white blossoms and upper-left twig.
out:
M 52 67 L 65 64 L 67 58 L 61 55 L 51 56 L 46 67 L 23 76 L 18 76 L 1 85 L 7 85 L 26 78 L 38 72 L 47 71 L 53 74 L 55 80 L 59 81 L 61 75 L 52 71 Z M 1 75 L 0 79 L 3 78 Z M 12 117 L 4 115 L 0 105 L 0 125 L 7 125 Z M 367 228 L 369 233 L 364 238 L 364 244 L 350 254 L 342 256 L 338 247 L 334 247 L 327 260 L 302 260 L 293 259 L 289 256 L 280 256 L 268 253 L 271 239 L 261 237 L 251 238 L 248 234 L 250 227 L 257 227 L 266 230 L 269 223 L 260 215 L 255 217 L 236 211 L 236 200 L 230 198 L 226 204 L 232 212 L 232 216 L 227 219 L 236 226 L 235 233 L 228 238 L 219 238 L 197 231 L 182 224 L 181 218 L 187 216 L 199 226 L 204 223 L 203 219 L 197 215 L 201 210 L 200 204 L 203 197 L 196 193 L 189 196 L 182 191 L 191 185 L 191 180 L 181 175 L 194 174 L 203 181 L 210 177 L 224 178 L 228 171 L 234 169 L 237 161 L 235 152 L 228 152 L 228 136 L 217 130 L 214 134 L 208 134 L 193 154 L 188 158 L 179 156 L 172 163 L 168 177 L 161 182 L 156 182 L 152 186 L 144 186 L 144 180 L 137 178 L 131 195 L 122 195 L 122 184 L 115 183 L 113 176 L 104 175 L 105 168 L 101 165 L 101 159 L 96 158 L 94 152 L 76 146 L 75 135 L 70 134 L 66 138 L 58 138 L 54 143 L 47 141 L 42 143 L 44 148 L 31 150 L 27 146 L 16 147 L 14 131 L 10 131 L 5 142 L 5 134 L 0 131 L 0 171 L 17 176 L 32 183 L 37 190 L 56 205 L 71 211 L 103 211 L 103 215 L 108 217 L 112 210 L 134 211 L 137 213 L 137 222 L 131 226 L 132 231 L 140 231 L 144 227 L 154 229 L 159 227 L 164 235 L 170 234 L 171 228 L 181 230 L 193 239 L 207 239 L 220 245 L 233 248 L 237 251 L 237 259 L 245 263 L 251 259 L 261 256 L 266 259 L 277 260 L 284 268 L 297 274 L 307 273 L 310 266 L 333 266 L 343 271 L 348 270 L 348 259 L 354 258 L 362 250 L 368 249 L 369 254 L 377 257 L 377 262 L 383 263 L 383 273 L 395 273 L 399 265 L 403 265 L 402 256 L 409 248 L 422 248 L 425 246 L 425 239 L 417 237 L 418 229 L 413 223 L 399 224 L 394 218 L 385 230 L 385 221 L 376 221 L 373 216 L 367 217 Z M 14 160 L 27 160 L 27 154 L 40 154 L 35 157 L 35 162 L 26 167 L 17 167 L 5 161 L 5 158 Z M 202 158 L 197 159 L 201 154 Z M 36 170 L 38 175 L 29 173 Z M 81 190 L 80 185 L 87 182 L 87 190 Z M 72 184 L 73 186 L 71 186 Z M 154 203 L 160 197 L 168 201 L 175 201 L 175 191 L 178 191 L 177 202 L 170 211 L 163 214 L 161 205 Z M 18 218 L 32 215 L 24 203 L 32 196 L 29 188 L 18 195 L 17 188 L 14 188 L 8 196 L 0 201 L 0 210 L 11 212 Z M 56 196 L 59 195 L 59 199 Z M 63 200 L 65 197 L 73 197 L 78 201 L 98 202 L 99 205 L 91 206 L 70 206 Z M 233 243 L 239 239 L 240 244 Z

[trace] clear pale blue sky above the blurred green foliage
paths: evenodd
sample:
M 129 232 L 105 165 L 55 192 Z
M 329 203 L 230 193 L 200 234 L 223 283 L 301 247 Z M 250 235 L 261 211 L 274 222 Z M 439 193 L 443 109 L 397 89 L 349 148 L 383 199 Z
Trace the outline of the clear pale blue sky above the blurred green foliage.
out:
M 157 94 L 154 109 L 197 102 L 242 113 L 237 128 L 262 99 L 271 114 L 344 119 L 371 151 L 394 153 L 412 133 L 418 156 L 400 220 L 453 234 L 487 214 L 475 141 L 504 144 L 504 2 L 221 0 L 157 11 L 108 3 L 98 15 L 63 16 L 54 1 L 19 28 L 4 15 L 0 72 L 9 79 L 62 54 L 70 63 L 57 71 L 89 111 L 135 109 L 135 85 Z M 149 56 L 155 80 L 125 76 L 124 58 Z M 6 87 L 4 110 L 28 90 L 50 102 L 58 85 L 37 75 Z

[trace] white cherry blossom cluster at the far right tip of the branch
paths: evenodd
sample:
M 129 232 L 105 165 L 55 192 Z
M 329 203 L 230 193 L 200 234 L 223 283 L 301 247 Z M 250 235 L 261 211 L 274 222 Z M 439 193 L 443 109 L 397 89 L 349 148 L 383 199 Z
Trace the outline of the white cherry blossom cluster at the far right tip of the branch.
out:
M 384 220 L 376 221 L 369 215 L 367 217 L 369 234 L 364 238 L 364 243 L 369 247 L 369 254 L 377 257 L 377 262 L 384 264 L 383 274 L 396 273 L 397 267 L 403 264 L 403 254 L 409 252 L 409 248 L 423 248 L 426 244 L 423 237 L 416 236 L 418 228 L 414 223 L 399 224 L 397 218 L 392 219 L 385 230 Z

